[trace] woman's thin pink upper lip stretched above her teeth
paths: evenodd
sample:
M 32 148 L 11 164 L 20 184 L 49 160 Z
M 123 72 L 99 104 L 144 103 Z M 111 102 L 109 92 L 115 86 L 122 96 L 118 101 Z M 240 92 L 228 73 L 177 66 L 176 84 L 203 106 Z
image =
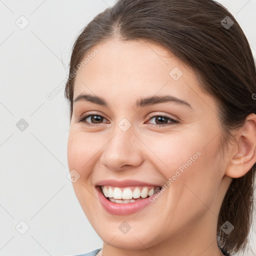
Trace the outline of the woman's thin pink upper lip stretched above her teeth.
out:
M 144 182 L 140 180 L 135 179 L 123 179 L 123 180 L 116 180 L 116 179 L 103 179 L 98 181 L 96 186 L 102 186 L 102 185 L 110 185 L 115 187 L 125 187 L 125 186 L 160 186 L 158 184 L 153 184 L 149 182 Z

